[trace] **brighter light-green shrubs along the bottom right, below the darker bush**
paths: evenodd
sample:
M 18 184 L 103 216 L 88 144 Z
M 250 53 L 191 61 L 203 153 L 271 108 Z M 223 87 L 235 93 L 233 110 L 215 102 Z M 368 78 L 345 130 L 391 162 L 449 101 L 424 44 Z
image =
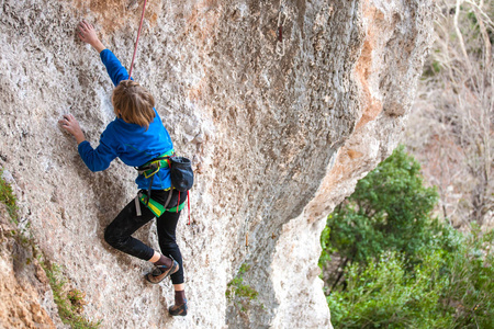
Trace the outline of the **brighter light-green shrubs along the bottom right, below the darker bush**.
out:
M 395 252 L 348 266 L 327 296 L 335 328 L 494 328 L 494 231 L 448 238 L 460 249 L 423 250 L 413 271 Z

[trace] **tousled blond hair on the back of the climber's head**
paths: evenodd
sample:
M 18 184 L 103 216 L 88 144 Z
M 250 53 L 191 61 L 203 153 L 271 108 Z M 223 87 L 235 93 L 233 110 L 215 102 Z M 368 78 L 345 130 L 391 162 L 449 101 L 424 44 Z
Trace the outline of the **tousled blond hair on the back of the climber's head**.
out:
M 113 89 L 113 111 L 126 123 L 149 127 L 156 114 L 153 107 L 155 99 L 146 88 L 133 80 L 122 80 Z

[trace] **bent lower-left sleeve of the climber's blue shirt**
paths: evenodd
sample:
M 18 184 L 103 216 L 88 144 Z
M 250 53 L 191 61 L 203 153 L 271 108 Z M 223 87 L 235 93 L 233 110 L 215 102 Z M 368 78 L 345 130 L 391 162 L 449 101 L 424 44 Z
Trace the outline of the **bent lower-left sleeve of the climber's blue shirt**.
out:
M 89 141 L 85 140 L 78 146 L 79 155 L 91 171 L 101 171 L 110 167 L 117 157 L 116 147 L 112 147 L 111 138 L 103 132 L 100 138 L 100 145 L 96 149 Z

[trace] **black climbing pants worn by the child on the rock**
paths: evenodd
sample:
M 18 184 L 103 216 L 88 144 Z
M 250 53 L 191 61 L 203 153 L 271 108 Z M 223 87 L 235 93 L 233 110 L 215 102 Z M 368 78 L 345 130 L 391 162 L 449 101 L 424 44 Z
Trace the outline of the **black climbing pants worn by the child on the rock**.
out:
M 142 191 L 146 194 L 146 191 Z M 153 190 L 153 200 L 165 204 L 168 197 L 168 191 Z M 183 197 L 184 196 L 184 197 Z M 183 200 L 182 200 L 183 197 Z M 180 195 L 180 203 L 187 201 L 187 194 Z M 169 208 L 175 207 L 178 203 L 178 191 L 173 190 L 173 194 L 168 205 Z M 142 226 L 149 223 L 155 215 L 144 204 L 141 203 L 142 215 L 137 216 L 135 200 L 132 200 L 115 219 L 106 227 L 104 231 L 104 240 L 115 249 L 125 253 L 137 257 L 142 260 L 148 261 L 155 253 L 154 249 L 143 243 L 141 240 L 133 238 L 132 235 Z M 170 213 L 165 212 L 157 218 L 158 241 L 161 253 L 167 257 L 172 257 L 180 265 L 177 273 L 171 274 L 171 282 L 173 284 L 183 283 L 183 266 L 182 254 L 177 245 L 176 228 L 180 217 L 180 212 Z

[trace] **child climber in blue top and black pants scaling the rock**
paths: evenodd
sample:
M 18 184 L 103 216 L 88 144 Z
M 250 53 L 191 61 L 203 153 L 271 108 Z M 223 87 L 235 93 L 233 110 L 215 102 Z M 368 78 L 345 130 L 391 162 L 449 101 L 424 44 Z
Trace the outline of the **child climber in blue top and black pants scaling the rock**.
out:
M 127 166 L 143 167 L 158 157 L 172 156 L 173 145 L 154 109 L 153 95 L 137 82 L 128 80 L 126 69 L 115 55 L 103 46 L 91 24 L 86 21 L 80 22 L 78 34 L 85 43 L 90 44 L 100 54 L 115 86 L 112 103 L 116 117 L 101 134 L 100 145 L 96 149 L 86 140 L 74 115 L 64 115 L 64 118 L 59 121 L 61 127 L 76 137 L 79 155 L 86 166 L 91 171 L 104 170 L 113 159 L 119 157 Z M 166 166 L 159 169 L 153 179 L 144 174 L 144 170 L 139 171 L 135 182 L 142 190 L 141 202 L 137 198 L 132 200 L 120 212 L 106 227 L 104 239 L 113 248 L 154 263 L 155 269 L 145 276 L 148 282 L 156 284 L 171 276 L 175 305 L 170 306 L 168 311 L 172 316 L 186 316 L 182 256 L 176 241 L 175 230 L 180 209 L 187 198 L 181 200 L 180 193 L 170 188 L 170 170 Z M 150 192 L 150 195 L 146 190 Z M 155 215 L 156 212 L 153 213 L 149 206 L 151 201 L 161 205 L 168 202 L 168 207 L 159 216 Z M 132 234 L 154 217 L 157 217 L 158 240 L 162 253 L 132 237 Z

